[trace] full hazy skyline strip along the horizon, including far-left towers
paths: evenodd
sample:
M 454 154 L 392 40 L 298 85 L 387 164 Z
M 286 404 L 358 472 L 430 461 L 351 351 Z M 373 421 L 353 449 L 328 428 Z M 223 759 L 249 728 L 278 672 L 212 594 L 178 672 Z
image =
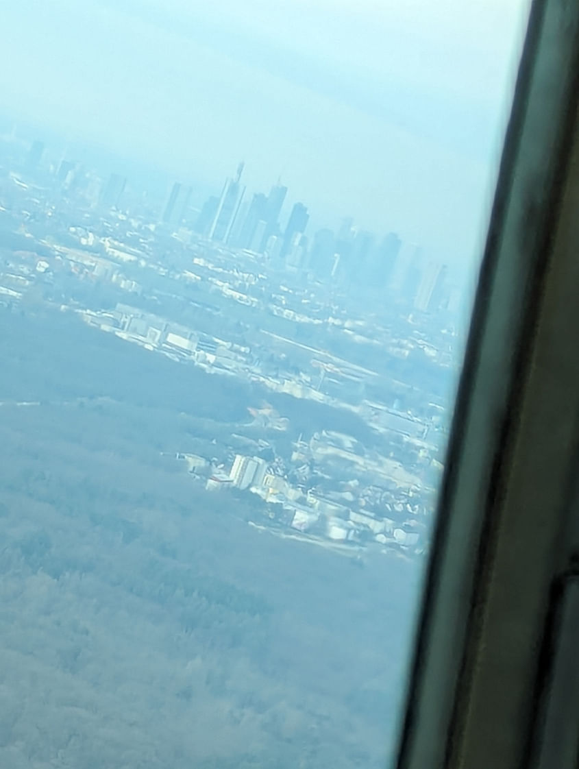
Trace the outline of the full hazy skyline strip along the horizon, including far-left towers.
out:
M 288 187 L 281 184 L 280 178 L 271 185 L 268 195 L 262 191 L 245 195 L 245 185 L 241 184 L 245 161 L 240 161 L 235 174 L 225 179 L 221 195 L 210 195 L 199 207 L 190 205 L 194 188 L 184 181 L 174 181 L 162 203 L 158 196 L 151 207 L 147 191 L 131 189 L 130 179 L 117 171 L 99 177 L 94 168 L 65 156 L 55 162 L 54 148 L 38 138 L 23 142 L 13 134 L 5 138 L 7 147 L 11 140 L 14 168 L 22 173 L 27 188 L 36 187 L 39 192 L 51 189 L 64 195 L 62 199 L 68 199 L 68 205 L 81 203 L 87 212 L 117 211 L 115 216 L 146 221 L 148 226 L 161 227 L 166 233 L 180 231 L 185 242 L 202 238 L 231 255 L 248 251 L 265 258 L 277 271 L 308 276 L 338 290 L 356 294 L 369 291 L 374 298 L 394 290 L 422 312 L 444 308 L 454 308 L 454 312 L 465 299 L 468 302 L 461 275 L 455 270 L 449 272 L 446 261 L 434 259 L 421 246 L 403 241 L 396 232 L 365 230 L 352 217 L 343 218 L 335 230 L 314 229 L 308 205 L 294 201 L 291 193 L 287 198 Z M 284 203 L 288 211 L 281 216 Z

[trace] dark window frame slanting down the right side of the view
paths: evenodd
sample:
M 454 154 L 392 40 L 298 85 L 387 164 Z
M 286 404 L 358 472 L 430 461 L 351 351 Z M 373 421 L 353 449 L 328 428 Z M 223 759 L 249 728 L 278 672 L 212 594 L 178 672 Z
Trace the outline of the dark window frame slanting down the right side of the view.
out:
M 569 481 L 579 398 L 573 367 L 561 364 L 573 350 L 565 324 L 575 318 L 579 328 L 579 312 L 554 302 L 576 285 L 578 74 L 579 3 L 535 0 L 458 389 L 398 769 L 527 766 L 541 743 L 553 585 L 579 541 L 564 534 L 577 510 Z M 537 364 L 547 359 L 551 370 Z M 525 445 L 525 431 L 536 435 L 546 418 L 538 396 L 557 393 L 568 402 L 557 401 L 558 412 L 551 407 L 553 434 L 544 445 Z M 528 470 L 541 459 L 554 477 L 533 482 Z M 525 521 L 517 494 L 528 501 Z M 521 546 L 507 548 L 514 531 Z M 505 578 L 519 580 L 511 594 L 521 598 L 509 617 L 501 606 Z M 512 664 L 517 648 L 521 660 Z M 502 659 L 491 661 L 491 650 Z

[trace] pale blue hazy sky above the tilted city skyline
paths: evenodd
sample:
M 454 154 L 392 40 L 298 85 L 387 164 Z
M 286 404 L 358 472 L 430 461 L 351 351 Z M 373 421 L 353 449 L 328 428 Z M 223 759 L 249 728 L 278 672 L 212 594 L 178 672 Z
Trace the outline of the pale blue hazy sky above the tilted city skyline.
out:
M 3 0 L 24 118 L 221 184 L 279 174 L 438 255 L 481 241 L 526 0 Z

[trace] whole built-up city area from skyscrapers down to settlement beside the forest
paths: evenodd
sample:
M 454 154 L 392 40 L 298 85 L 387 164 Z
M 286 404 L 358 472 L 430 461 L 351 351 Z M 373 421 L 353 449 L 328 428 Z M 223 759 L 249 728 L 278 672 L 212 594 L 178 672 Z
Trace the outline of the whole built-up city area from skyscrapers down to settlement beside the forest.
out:
M 355 414 L 376 438 L 328 424 L 281 449 L 291 417 L 264 400 L 247 424 L 267 440 L 240 425 L 227 461 L 179 446 L 160 461 L 181 462 L 208 491 L 257 495 L 268 512 L 253 524 L 284 536 L 428 549 L 461 344 L 445 265 L 350 219 L 309 235 L 308 208 L 284 214 L 281 182 L 248 195 L 243 164 L 220 195 L 196 204 L 178 181 L 158 205 L 39 141 L 5 138 L 3 151 L 3 305 L 49 303 L 176 366 Z

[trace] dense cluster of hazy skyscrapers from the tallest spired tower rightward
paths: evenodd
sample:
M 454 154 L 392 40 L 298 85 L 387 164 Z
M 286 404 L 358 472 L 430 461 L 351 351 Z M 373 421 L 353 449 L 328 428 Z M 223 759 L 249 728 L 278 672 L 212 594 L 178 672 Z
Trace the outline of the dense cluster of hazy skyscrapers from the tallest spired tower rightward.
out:
M 308 238 L 310 215 L 302 202 L 293 205 L 282 227 L 281 209 L 288 188 L 278 181 L 268 195 L 256 192 L 244 201 L 242 171 L 241 163 L 235 177 L 225 181 L 221 196 L 205 201 L 194 225 L 199 235 L 265 255 L 271 265 L 306 270 L 338 285 L 377 291 L 390 288 L 420 311 L 448 305 L 448 268 L 424 261 L 418 246 L 403 244 L 394 232 L 378 238 L 354 226 L 351 218 L 345 218 L 337 232 L 323 228 Z

